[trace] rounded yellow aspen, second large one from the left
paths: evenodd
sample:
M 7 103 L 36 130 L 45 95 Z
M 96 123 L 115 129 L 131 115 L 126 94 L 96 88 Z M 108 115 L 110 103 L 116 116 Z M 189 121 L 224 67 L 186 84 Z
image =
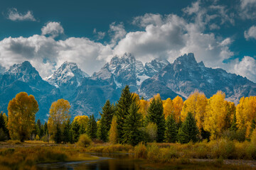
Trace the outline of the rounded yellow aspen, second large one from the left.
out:
M 64 129 L 65 124 L 70 119 L 69 109 L 70 103 L 63 98 L 52 103 L 48 118 L 48 131 L 50 135 L 55 134 L 57 126 L 59 126 L 60 130 Z

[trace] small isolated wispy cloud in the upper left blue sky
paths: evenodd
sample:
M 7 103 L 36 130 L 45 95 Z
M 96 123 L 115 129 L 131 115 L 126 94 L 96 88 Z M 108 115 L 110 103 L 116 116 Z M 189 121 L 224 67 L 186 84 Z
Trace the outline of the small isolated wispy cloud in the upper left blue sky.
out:
M 11 21 L 36 21 L 32 11 L 27 11 L 26 13 L 22 14 L 19 13 L 16 8 L 9 9 L 7 18 Z

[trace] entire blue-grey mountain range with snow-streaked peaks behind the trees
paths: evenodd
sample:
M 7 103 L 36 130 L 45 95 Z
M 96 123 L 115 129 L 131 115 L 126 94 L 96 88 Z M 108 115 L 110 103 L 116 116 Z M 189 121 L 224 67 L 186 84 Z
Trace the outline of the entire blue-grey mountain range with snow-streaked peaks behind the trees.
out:
M 193 53 L 178 57 L 174 63 L 156 59 L 146 64 L 125 53 L 122 57 L 112 57 L 91 77 L 73 62 L 64 62 L 45 79 L 29 62 L 14 64 L 0 74 L 0 110 L 7 113 L 11 98 L 26 91 L 38 101 L 36 118 L 41 120 L 47 120 L 50 105 L 58 98 L 70 102 L 73 117 L 90 114 L 99 117 L 105 101 L 117 101 L 126 85 L 146 99 L 158 93 L 163 99 L 176 96 L 186 99 L 196 89 L 208 98 L 218 90 L 224 91 L 227 100 L 235 103 L 242 96 L 256 95 L 254 82 L 223 69 L 205 67 L 203 62 L 196 62 Z

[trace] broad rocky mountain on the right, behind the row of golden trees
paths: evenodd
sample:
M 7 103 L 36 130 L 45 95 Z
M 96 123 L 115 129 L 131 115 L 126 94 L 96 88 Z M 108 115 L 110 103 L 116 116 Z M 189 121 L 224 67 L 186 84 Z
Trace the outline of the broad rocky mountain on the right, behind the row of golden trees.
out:
M 242 96 L 256 95 L 256 84 L 252 81 L 223 69 L 205 67 L 203 62 L 196 62 L 192 53 L 178 57 L 154 77 L 146 79 L 139 91 L 147 98 L 156 93 L 163 98 L 174 98 L 176 94 L 188 98 L 196 89 L 208 98 L 217 91 L 224 91 L 226 98 L 235 103 Z

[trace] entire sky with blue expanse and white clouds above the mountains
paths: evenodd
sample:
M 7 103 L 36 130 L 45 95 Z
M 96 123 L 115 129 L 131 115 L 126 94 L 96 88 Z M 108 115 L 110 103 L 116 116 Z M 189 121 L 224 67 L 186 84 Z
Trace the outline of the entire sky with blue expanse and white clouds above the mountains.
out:
M 256 81 L 256 0 L 1 1 L 0 64 L 42 77 L 65 61 L 92 74 L 114 55 L 150 62 L 193 52 L 207 67 Z

